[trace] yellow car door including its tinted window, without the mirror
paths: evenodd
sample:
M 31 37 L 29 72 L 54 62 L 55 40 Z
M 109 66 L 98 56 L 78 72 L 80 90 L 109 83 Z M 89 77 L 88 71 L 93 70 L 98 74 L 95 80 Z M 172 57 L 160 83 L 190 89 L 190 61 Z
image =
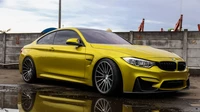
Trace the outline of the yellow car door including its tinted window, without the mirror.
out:
M 57 75 L 70 77 L 84 77 L 85 72 L 85 47 L 67 45 L 69 38 L 80 38 L 73 30 L 59 30 L 54 39 L 54 54 L 52 59 L 53 71 Z

